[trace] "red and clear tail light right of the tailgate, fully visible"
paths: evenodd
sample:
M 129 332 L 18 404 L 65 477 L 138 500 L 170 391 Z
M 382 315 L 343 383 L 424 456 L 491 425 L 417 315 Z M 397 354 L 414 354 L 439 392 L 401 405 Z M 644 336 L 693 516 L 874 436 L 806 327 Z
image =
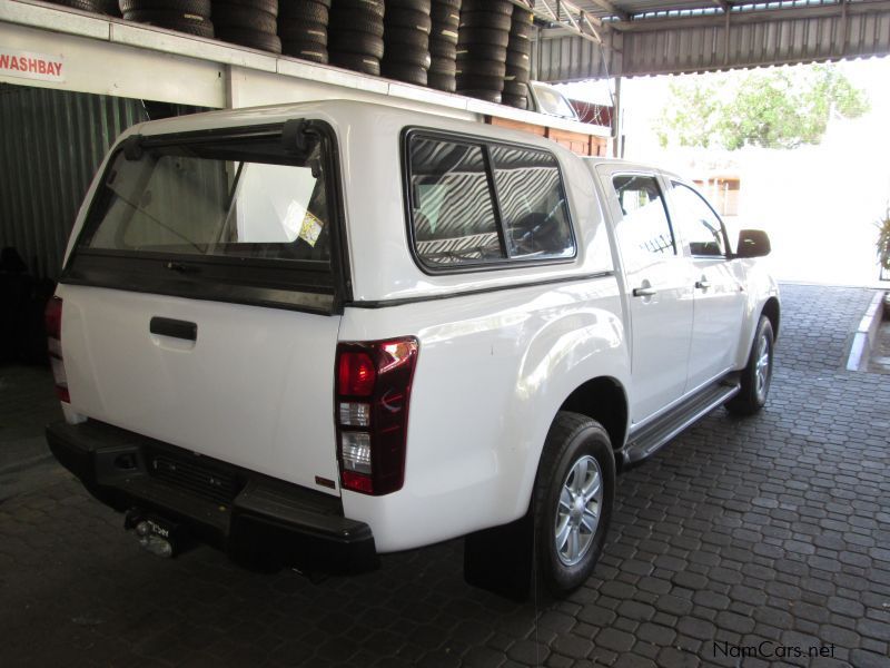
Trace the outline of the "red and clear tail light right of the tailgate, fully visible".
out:
M 337 346 L 334 418 L 344 489 L 374 495 L 402 489 L 418 350 L 413 336 Z

